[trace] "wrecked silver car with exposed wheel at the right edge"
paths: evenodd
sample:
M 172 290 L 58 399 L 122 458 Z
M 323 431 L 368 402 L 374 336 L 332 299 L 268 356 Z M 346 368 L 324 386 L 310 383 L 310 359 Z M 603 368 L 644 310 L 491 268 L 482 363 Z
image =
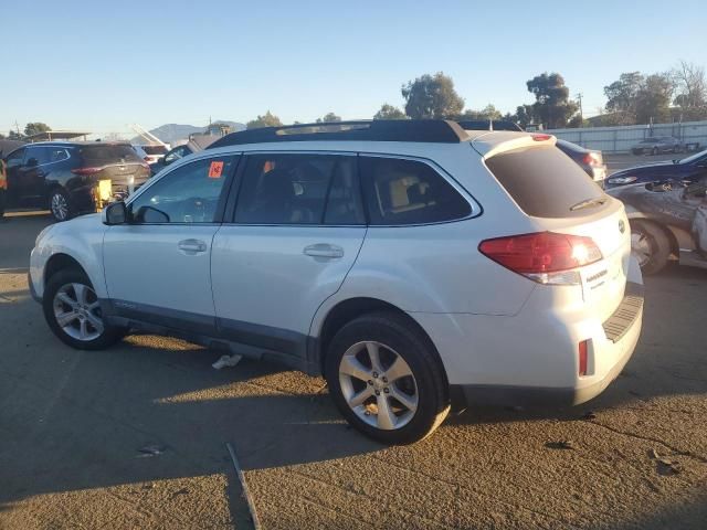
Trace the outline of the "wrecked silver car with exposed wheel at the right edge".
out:
M 623 201 L 631 248 L 644 274 L 671 258 L 707 268 L 707 171 L 694 180 L 634 183 L 609 191 Z

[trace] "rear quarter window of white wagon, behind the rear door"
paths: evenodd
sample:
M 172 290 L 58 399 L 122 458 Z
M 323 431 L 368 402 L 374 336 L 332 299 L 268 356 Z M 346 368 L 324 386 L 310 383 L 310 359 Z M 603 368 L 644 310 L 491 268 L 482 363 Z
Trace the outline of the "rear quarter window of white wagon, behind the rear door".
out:
M 360 157 L 370 223 L 424 224 L 467 216 L 468 202 L 424 162 Z

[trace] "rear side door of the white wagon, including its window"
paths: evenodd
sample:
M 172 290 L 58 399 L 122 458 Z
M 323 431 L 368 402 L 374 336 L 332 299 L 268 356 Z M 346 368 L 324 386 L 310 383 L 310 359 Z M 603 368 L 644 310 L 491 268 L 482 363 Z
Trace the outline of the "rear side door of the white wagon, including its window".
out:
M 357 159 L 253 153 L 211 276 L 218 326 L 234 342 L 304 360 L 317 308 L 341 286 L 366 235 Z

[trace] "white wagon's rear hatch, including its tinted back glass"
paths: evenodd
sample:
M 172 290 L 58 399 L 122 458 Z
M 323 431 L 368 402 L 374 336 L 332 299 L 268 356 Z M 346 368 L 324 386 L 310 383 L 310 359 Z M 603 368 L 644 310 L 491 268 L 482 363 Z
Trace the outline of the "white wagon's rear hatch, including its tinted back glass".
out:
M 601 258 L 577 272 L 584 304 L 605 320 L 621 304 L 626 283 L 631 231 L 623 204 L 606 195 L 577 163 L 556 149 L 552 137 L 534 137 L 537 139 L 514 139 L 506 146 L 477 150 L 536 230 L 594 242 Z

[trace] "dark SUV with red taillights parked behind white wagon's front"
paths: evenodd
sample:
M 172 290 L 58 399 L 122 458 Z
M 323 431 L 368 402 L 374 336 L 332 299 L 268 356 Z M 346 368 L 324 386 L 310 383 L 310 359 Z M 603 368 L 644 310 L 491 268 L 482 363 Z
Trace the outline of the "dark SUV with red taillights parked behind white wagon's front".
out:
M 124 199 L 150 176 L 129 144 L 46 141 L 10 152 L 8 208 L 49 208 L 56 221 Z

